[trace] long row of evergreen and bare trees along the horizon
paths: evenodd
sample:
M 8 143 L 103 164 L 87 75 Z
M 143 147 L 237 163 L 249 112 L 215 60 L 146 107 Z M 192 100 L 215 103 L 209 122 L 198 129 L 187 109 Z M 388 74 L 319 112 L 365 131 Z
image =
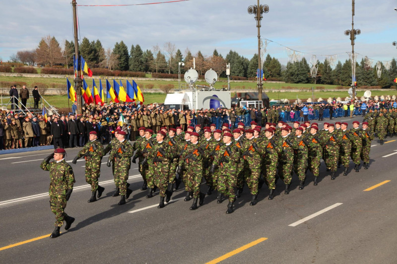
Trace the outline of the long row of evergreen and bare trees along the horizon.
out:
M 79 44 L 79 51 L 91 68 L 107 68 L 132 72 L 168 73 L 179 72 L 179 62 L 185 65 L 180 67 L 181 73 L 193 67 L 195 57 L 196 70 L 203 75 L 208 69 L 218 73 L 218 77 L 225 77 L 226 63 L 231 64 L 230 74 L 243 78 L 254 78 L 257 75 L 258 54 L 248 59 L 236 51 L 230 51 L 225 57 L 215 49 L 211 55 L 204 55 L 200 51 L 193 54 L 189 48 L 184 53 L 177 49 L 175 44 L 166 42 L 151 49 L 142 50 L 139 44 L 129 49 L 123 42 L 117 42 L 113 49 L 104 49 L 99 40 L 90 41 L 84 37 Z M 22 62 L 27 65 L 61 65 L 73 66 L 74 43 L 65 40 L 60 44 L 55 37 L 46 36 L 41 39 L 34 50 L 18 51 L 12 55 L 10 61 Z M 310 66 L 305 57 L 300 61 L 288 62 L 282 65 L 280 61 L 266 55 L 264 75 L 267 80 L 285 81 L 287 83 L 314 83 L 333 84 L 339 86 L 351 85 L 351 62 L 338 61 L 332 68 L 329 61 L 318 63 L 317 75 L 311 77 Z M 397 78 L 397 62 L 393 59 L 389 69 L 382 64 L 382 75 L 378 78 L 376 67 L 368 66 L 364 59 L 356 63 L 356 81 L 358 86 L 380 86 L 390 88 Z

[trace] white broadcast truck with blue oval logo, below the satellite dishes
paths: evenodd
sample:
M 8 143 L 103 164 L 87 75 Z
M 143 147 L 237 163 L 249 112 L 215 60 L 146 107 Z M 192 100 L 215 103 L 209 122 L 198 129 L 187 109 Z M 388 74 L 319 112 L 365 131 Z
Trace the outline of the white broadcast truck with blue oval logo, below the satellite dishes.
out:
M 167 94 L 164 106 L 170 109 L 230 108 L 230 91 L 182 91 Z

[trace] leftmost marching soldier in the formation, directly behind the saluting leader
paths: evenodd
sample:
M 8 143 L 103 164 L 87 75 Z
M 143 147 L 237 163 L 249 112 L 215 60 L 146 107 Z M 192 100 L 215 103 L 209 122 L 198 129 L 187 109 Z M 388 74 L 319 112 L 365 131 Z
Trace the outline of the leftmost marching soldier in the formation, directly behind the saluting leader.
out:
M 79 151 L 72 163 L 76 164 L 77 159 L 85 158 L 85 181 L 91 185 L 91 198 L 88 203 L 96 201 L 96 192 L 98 190 L 98 198 L 102 196 L 105 188 L 98 185 L 98 178 L 101 173 L 101 162 L 104 156 L 102 144 L 97 140 L 98 135 L 95 131 L 89 133 L 89 141 Z

